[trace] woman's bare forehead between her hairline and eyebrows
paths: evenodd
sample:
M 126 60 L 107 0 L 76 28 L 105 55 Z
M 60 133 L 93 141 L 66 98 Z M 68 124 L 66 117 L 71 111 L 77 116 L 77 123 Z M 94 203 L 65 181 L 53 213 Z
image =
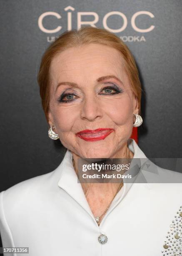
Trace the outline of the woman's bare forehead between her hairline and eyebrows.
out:
M 108 46 L 90 44 L 69 48 L 51 62 L 50 78 L 124 75 L 124 60 L 119 51 Z

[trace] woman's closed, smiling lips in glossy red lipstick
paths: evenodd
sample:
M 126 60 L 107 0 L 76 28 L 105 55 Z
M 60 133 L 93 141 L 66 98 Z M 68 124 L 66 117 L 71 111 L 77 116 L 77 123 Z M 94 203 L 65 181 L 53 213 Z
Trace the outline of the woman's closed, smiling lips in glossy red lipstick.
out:
M 98 128 L 96 130 L 83 130 L 76 135 L 85 141 L 100 141 L 104 140 L 114 129 L 112 128 Z

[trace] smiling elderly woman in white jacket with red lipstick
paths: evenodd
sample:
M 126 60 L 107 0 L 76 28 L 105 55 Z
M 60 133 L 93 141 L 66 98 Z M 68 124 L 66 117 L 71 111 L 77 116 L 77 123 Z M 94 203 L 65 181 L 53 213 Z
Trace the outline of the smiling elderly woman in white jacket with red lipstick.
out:
M 155 182 L 78 182 L 79 159 L 147 160 L 130 138 L 142 124 L 141 86 L 127 46 L 101 28 L 66 31 L 45 51 L 38 83 L 49 137 L 67 151 L 54 171 L 0 193 L 3 246 L 30 256 L 181 255 L 173 178 L 182 174 L 150 162 L 142 175 Z

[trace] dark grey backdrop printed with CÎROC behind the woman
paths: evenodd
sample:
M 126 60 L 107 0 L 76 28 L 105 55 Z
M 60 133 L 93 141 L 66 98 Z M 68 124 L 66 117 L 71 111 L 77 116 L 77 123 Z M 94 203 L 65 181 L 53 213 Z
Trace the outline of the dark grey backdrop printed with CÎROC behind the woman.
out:
M 182 157 L 181 13 L 181 0 L 1 0 L 0 191 L 62 161 L 65 149 L 47 135 L 36 76 L 50 42 L 86 21 L 107 26 L 135 56 L 144 90 L 142 151 L 150 158 Z

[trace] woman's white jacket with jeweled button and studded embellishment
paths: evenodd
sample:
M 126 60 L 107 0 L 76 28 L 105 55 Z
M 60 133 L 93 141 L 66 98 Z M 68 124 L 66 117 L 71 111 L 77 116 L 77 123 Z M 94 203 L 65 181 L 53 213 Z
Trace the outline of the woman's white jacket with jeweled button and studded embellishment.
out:
M 148 159 L 135 140 L 128 146 L 144 166 Z M 0 193 L 3 247 L 29 247 L 29 256 L 181 255 L 175 251 L 182 250 L 182 174 L 147 168 L 140 178 L 156 183 L 124 183 L 98 226 L 67 150 L 54 171 Z M 181 182 L 157 183 L 161 177 Z

